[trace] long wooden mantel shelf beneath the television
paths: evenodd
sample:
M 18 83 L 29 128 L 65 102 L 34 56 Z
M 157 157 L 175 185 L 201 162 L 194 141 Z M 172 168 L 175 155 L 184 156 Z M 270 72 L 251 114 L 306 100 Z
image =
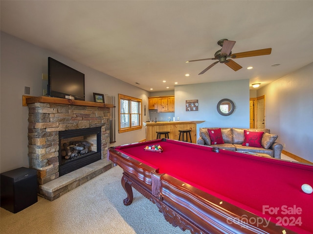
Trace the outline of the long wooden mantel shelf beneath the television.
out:
M 68 104 L 68 105 L 77 105 L 77 106 L 96 106 L 96 107 L 107 107 L 113 108 L 113 104 L 106 104 L 100 102 L 92 102 L 92 101 L 81 101 L 81 100 L 72 100 L 65 98 L 52 98 L 52 97 L 34 97 L 34 96 L 22 96 L 22 106 L 27 106 L 27 104 L 31 103 L 56 103 L 56 104 Z

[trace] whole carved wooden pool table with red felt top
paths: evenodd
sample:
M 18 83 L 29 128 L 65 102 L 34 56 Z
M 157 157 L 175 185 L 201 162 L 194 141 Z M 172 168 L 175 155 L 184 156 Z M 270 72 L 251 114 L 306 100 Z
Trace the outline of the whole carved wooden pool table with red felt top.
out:
M 313 194 L 301 190 L 313 186 L 312 165 L 171 139 L 111 147 L 108 157 L 123 169 L 124 205 L 134 187 L 183 231 L 313 233 Z

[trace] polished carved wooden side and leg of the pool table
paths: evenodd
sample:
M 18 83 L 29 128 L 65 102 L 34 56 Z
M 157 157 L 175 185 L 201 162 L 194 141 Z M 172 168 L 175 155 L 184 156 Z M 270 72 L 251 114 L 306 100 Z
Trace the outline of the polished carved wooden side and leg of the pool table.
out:
M 146 165 L 114 148 L 109 148 L 109 159 L 123 169 L 122 187 L 127 198 L 124 205 L 133 202 L 132 187 L 156 204 L 164 218 L 174 227 L 192 234 L 295 234 L 273 222 L 267 225 L 250 224 L 242 217 L 260 218 L 240 207 L 207 194 L 168 174 L 158 174 L 157 168 Z M 152 178 L 154 177 L 154 178 Z M 160 187 L 156 186 L 157 181 Z M 157 186 L 156 186 L 157 187 Z M 156 189 L 157 192 L 153 192 Z

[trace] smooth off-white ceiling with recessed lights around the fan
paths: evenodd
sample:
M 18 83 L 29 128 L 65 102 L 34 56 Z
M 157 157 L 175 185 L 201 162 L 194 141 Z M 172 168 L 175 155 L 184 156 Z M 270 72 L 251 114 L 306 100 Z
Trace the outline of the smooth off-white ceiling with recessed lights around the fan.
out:
M 147 91 L 238 79 L 263 87 L 313 62 L 312 0 L 1 0 L 0 8 L 1 31 Z M 220 39 L 236 41 L 233 54 L 272 53 L 234 59 L 237 72 L 218 63 L 198 75 L 214 60 L 185 63 L 213 58 Z

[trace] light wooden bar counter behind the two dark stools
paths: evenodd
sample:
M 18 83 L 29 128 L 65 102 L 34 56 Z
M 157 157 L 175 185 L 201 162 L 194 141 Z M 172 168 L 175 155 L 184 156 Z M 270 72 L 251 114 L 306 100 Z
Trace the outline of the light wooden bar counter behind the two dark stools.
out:
M 156 139 L 156 132 L 167 131 L 169 133 L 169 138 L 174 140 L 179 140 L 179 130 L 191 130 L 191 140 L 192 143 L 197 143 L 197 124 L 203 123 L 203 120 L 188 120 L 188 121 L 147 121 L 147 133 L 146 140 Z M 188 134 L 189 136 L 189 134 Z M 164 137 L 161 136 L 161 137 Z M 189 137 L 188 137 L 189 141 Z

